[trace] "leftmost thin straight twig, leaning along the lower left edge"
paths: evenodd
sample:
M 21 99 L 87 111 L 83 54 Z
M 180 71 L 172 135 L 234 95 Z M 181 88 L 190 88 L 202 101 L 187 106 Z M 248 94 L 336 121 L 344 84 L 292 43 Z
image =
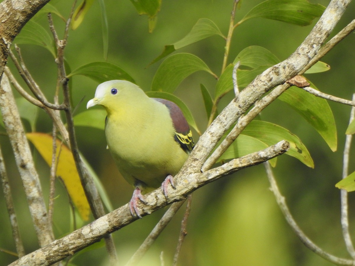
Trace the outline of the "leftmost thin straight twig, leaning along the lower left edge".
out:
M 11 195 L 11 187 L 9 184 L 9 178 L 7 177 L 6 167 L 4 163 L 4 157 L 2 157 L 2 151 L 0 147 L 0 178 L 2 183 L 2 190 L 4 191 L 5 203 L 7 208 L 7 213 L 10 218 L 10 225 L 12 230 L 12 238 L 15 242 L 16 251 L 19 258 L 25 255 L 23 243 L 21 240 L 20 230 L 18 228 L 17 216 L 15 212 L 15 206 L 13 204 L 13 199 Z

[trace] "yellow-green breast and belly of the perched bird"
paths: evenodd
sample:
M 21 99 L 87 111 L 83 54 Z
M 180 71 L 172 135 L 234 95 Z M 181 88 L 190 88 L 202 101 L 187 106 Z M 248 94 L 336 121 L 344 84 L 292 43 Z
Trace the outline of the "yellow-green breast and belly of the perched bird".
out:
M 174 132 L 166 106 L 151 99 L 108 112 L 105 126 L 109 150 L 122 176 L 132 185 L 139 180 L 151 188 L 159 187 L 168 174 L 178 173 L 187 159 Z

